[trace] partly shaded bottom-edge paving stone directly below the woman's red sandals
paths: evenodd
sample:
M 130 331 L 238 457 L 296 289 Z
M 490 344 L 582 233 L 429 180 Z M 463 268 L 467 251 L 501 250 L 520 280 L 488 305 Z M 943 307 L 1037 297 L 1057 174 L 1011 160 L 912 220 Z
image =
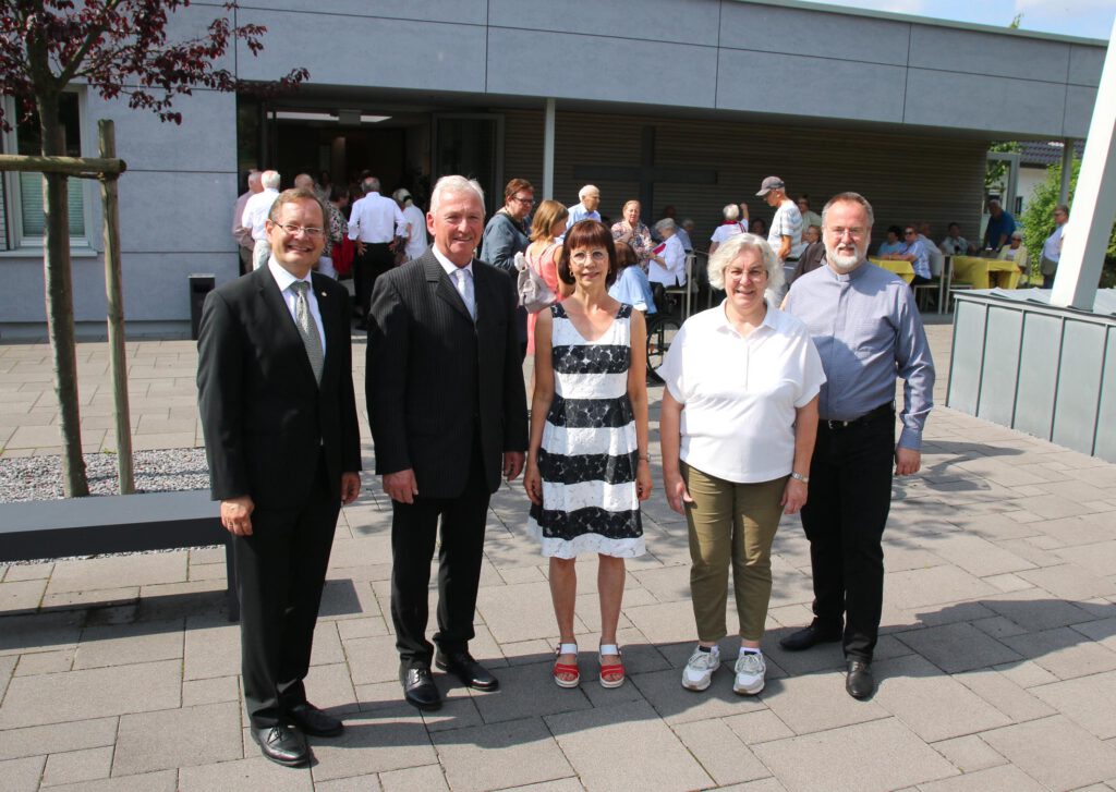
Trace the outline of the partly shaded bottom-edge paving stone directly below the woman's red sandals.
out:
M 618 745 L 625 756 L 622 783 L 628 789 L 710 785 L 710 776 L 647 704 L 551 715 L 546 722 L 587 789 L 616 788 Z

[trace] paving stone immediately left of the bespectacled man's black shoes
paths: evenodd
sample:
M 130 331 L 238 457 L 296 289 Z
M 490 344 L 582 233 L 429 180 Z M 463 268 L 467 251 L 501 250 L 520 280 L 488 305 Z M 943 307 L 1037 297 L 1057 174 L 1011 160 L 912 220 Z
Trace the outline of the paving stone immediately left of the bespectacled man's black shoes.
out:
M 162 709 L 121 717 L 113 775 L 241 757 L 239 704 Z

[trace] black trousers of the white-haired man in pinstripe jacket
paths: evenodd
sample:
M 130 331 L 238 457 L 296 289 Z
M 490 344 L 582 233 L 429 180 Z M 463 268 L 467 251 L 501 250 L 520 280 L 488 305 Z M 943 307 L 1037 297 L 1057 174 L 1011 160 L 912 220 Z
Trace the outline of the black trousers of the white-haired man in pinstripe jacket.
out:
M 473 440 L 469 483 L 456 498 L 392 501 L 392 622 L 400 663 L 429 668 L 434 647 L 426 640 L 427 589 L 439 519 L 437 632 L 443 651 L 463 651 L 473 638 L 477 588 L 484 553 L 484 523 L 491 494 L 484 477 L 480 442 Z

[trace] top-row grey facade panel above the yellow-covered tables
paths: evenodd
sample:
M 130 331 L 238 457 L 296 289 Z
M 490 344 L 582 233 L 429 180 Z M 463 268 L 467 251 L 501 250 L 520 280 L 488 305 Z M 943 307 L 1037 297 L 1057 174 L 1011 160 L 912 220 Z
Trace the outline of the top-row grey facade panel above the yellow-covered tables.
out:
M 1065 83 L 1069 48 L 1068 44 L 1060 41 L 913 25 L 910 65 L 913 68 L 962 71 L 981 77 Z

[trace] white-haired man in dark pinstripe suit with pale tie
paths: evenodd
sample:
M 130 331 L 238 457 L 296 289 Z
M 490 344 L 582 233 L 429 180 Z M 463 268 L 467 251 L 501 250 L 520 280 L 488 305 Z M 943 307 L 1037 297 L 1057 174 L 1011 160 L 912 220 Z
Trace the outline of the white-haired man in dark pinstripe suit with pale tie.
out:
M 426 587 L 439 519 L 437 656 L 466 686 L 498 682 L 469 654 L 489 498 L 523 467 L 527 400 L 507 273 L 473 259 L 484 196 L 439 180 L 426 226 L 434 244 L 376 281 L 366 392 L 376 472 L 392 499 L 392 620 L 404 697 L 436 709 Z

